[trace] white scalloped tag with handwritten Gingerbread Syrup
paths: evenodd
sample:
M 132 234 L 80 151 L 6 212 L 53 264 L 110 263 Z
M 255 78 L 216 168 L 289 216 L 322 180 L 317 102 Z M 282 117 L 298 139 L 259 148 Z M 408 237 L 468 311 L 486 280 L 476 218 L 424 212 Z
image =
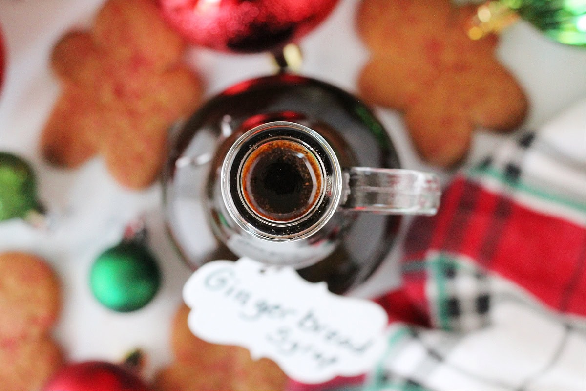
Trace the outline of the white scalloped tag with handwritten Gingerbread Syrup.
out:
M 183 287 L 190 330 L 214 344 L 268 357 L 303 383 L 356 376 L 380 359 L 387 314 L 374 302 L 343 297 L 292 268 L 247 258 L 205 264 Z

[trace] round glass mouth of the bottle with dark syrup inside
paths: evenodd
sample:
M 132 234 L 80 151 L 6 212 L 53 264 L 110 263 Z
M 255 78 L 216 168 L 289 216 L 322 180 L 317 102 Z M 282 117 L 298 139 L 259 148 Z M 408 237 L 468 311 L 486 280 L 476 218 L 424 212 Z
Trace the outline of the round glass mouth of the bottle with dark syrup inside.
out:
M 338 159 L 321 135 L 276 121 L 243 134 L 222 166 L 222 196 L 247 232 L 272 241 L 302 239 L 320 229 L 338 207 Z

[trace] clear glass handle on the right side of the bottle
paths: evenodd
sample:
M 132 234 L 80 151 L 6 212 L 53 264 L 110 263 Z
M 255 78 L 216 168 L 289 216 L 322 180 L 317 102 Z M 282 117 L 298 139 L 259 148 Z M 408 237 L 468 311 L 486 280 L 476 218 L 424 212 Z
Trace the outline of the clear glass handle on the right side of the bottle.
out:
M 435 174 L 400 168 L 352 167 L 342 172 L 342 209 L 383 215 L 435 215 L 441 187 Z

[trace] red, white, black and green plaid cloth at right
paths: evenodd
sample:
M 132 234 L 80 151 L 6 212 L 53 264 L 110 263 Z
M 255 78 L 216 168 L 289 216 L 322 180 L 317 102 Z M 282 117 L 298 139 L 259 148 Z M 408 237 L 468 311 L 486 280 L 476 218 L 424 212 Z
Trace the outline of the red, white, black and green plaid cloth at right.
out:
M 584 102 L 573 110 L 466 172 L 439 229 L 420 222 L 403 273 L 432 328 L 391 324 L 363 389 L 586 388 Z

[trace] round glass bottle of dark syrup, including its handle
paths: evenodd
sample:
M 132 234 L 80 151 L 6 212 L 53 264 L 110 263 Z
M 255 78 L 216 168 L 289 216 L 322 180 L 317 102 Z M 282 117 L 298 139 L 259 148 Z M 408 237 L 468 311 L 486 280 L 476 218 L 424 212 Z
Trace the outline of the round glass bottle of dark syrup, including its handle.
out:
M 288 73 L 243 81 L 176 132 L 165 209 L 193 268 L 249 256 L 344 293 L 383 261 L 398 214 L 437 208 L 437 179 L 398 169 L 370 109 L 323 81 Z

